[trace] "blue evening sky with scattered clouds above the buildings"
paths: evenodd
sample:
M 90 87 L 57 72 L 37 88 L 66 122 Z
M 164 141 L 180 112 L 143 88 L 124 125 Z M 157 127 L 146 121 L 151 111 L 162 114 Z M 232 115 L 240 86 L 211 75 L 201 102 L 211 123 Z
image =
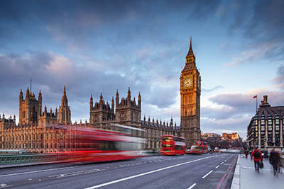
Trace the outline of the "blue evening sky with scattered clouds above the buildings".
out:
M 202 76 L 201 129 L 239 132 L 258 95 L 284 105 L 284 1 L 0 1 L 0 113 L 33 79 L 43 105 L 89 120 L 89 97 L 142 96 L 142 116 L 180 124 L 190 35 Z M 26 92 L 24 92 L 26 93 Z

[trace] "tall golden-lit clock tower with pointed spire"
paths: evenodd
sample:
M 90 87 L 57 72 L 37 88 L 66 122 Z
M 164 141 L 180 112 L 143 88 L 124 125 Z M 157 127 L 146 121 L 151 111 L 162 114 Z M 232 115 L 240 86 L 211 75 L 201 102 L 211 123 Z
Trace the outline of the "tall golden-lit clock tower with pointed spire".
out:
M 200 87 L 201 77 L 195 64 L 190 37 L 190 50 L 180 75 L 180 128 L 188 148 L 200 140 Z

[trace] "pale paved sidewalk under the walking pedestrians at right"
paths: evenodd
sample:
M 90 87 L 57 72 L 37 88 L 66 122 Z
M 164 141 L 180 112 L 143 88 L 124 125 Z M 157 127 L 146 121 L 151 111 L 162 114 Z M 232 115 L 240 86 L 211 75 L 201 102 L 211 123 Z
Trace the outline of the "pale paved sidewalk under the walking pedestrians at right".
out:
M 250 156 L 248 159 L 243 154 L 239 155 L 236 163 L 234 178 L 231 183 L 231 189 L 251 189 L 251 188 L 266 188 L 278 189 L 284 187 L 284 171 L 278 174 L 278 177 L 273 176 L 272 166 L 268 160 L 263 159 L 263 168 L 259 173 L 254 170 L 254 163 Z

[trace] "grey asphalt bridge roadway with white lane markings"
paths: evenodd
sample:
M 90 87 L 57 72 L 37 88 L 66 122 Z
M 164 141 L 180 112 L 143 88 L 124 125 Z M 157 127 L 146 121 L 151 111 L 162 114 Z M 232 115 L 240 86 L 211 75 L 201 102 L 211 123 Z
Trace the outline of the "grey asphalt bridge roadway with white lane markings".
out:
M 0 188 L 230 188 L 237 154 L 0 169 Z

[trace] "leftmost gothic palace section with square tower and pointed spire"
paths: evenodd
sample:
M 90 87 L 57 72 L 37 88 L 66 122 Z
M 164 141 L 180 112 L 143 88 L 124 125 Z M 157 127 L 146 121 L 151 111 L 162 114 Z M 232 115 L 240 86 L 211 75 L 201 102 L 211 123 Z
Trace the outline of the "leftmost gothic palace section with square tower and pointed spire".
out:
M 0 118 L 0 149 L 26 149 L 26 151 L 34 153 L 55 152 L 61 149 L 72 150 L 74 144 L 68 142 L 71 139 L 71 132 L 63 129 L 62 124 L 60 124 L 66 121 L 71 123 L 71 114 L 67 103 L 64 88 L 58 119 L 57 108 L 55 113 L 51 108 L 48 112 L 46 106 L 43 111 L 41 110 L 41 91 L 38 94 L 38 99 L 36 99 L 34 93 L 27 89 L 24 99 L 21 90 L 19 124 L 16 125 L 16 116 L 13 119 L 11 117 L 6 119 L 4 115 Z

